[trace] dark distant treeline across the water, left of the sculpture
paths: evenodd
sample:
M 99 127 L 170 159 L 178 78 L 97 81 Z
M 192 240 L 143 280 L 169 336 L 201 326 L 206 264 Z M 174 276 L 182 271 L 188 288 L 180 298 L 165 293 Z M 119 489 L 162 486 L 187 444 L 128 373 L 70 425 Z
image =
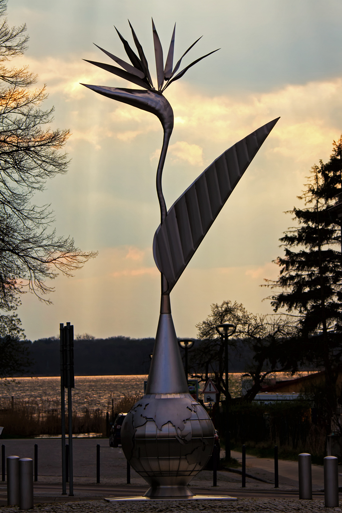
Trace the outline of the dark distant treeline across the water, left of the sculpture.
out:
M 31 376 L 59 376 L 59 339 L 25 342 L 30 347 L 34 364 Z M 148 374 L 149 354 L 153 351 L 154 339 L 131 339 L 110 337 L 108 339 L 75 340 L 75 376 L 110 376 L 112 374 Z

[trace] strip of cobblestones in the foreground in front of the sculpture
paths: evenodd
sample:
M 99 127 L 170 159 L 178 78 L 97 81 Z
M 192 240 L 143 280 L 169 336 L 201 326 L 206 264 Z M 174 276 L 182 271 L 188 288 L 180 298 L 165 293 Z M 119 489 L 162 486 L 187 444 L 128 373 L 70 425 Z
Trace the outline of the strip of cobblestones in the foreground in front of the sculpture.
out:
M 239 499 L 236 502 L 226 501 L 153 501 L 108 503 L 102 501 L 65 502 L 53 504 L 37 504 L 34 511 L 37 513 L 291 513 L 303 511 L 316 513 L 317 511 L 342 511 L 338 508 L 325 508 L 324 501 L 304 501 L 296 499 Z M 3 506 L 1 513 L 14 513 L 18 511 L 15 506 Z

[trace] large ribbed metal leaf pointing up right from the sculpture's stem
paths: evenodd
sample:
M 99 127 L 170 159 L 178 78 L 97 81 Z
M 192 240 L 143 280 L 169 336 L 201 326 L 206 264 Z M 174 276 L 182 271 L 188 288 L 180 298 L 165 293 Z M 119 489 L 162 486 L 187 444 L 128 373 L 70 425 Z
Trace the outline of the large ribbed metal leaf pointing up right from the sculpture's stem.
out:
M 255 130 L 218 157 L 172 205 L 153 240 L 153 257 L 177 283 L 218 213 L 279 118 Z

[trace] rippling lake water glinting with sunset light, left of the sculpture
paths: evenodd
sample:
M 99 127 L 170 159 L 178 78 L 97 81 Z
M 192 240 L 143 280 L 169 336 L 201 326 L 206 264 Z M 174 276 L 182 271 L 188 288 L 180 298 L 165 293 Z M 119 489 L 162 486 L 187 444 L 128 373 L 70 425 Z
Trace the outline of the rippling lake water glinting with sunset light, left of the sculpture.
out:
M 125 395 L 144 394 L 144 380 L 147 376 L 75 376 L 72 391 L 73 409 L 100 408 L 111 411 L 114 404 Z M 59 403 L 61 400 L 61 378 L 15 378 L 15 383 L 0 387 L 0 398 L 33 400 L 34 402 Z M 67 393 L 66 393 L 67 399 Z

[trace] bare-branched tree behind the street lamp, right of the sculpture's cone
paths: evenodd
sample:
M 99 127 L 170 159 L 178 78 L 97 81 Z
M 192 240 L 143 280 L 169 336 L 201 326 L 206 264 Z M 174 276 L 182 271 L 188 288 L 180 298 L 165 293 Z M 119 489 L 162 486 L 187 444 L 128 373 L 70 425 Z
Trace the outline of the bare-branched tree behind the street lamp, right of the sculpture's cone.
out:
M 225 348 L 224 342 L 217 335 L 218 324 L 230 323 L 236 326 L 234 337 L 228 339 L 229 355 L 235 358 L 244 356 L 245 377 L 249 377 L 251 386 L 244 399 L 251 401 L 275 371 L 292 371 L 297 369 L 297 362 L 292 361 L 291 354 L 285 350 L 285 341 L 289 344 L 296 334 L 293 318 L 286 315 L 259 315 L 250 313 L 236 301 L 224 301 L 211 305 L 211 313 L 205 321 L 196 325 L 199 343 L 191 354 L 194 368 L 204 369 L 215 375 L 216 386 L 220 393 L 227 395 L 224 379 Z M 288 347 L 288 346 L 287 346 Z M 198 376 L 198 374 L 197 374 Z M 203 377 L 201 376 L 203 379 Z M 228 399 L 231 399 L 228 391 Z

